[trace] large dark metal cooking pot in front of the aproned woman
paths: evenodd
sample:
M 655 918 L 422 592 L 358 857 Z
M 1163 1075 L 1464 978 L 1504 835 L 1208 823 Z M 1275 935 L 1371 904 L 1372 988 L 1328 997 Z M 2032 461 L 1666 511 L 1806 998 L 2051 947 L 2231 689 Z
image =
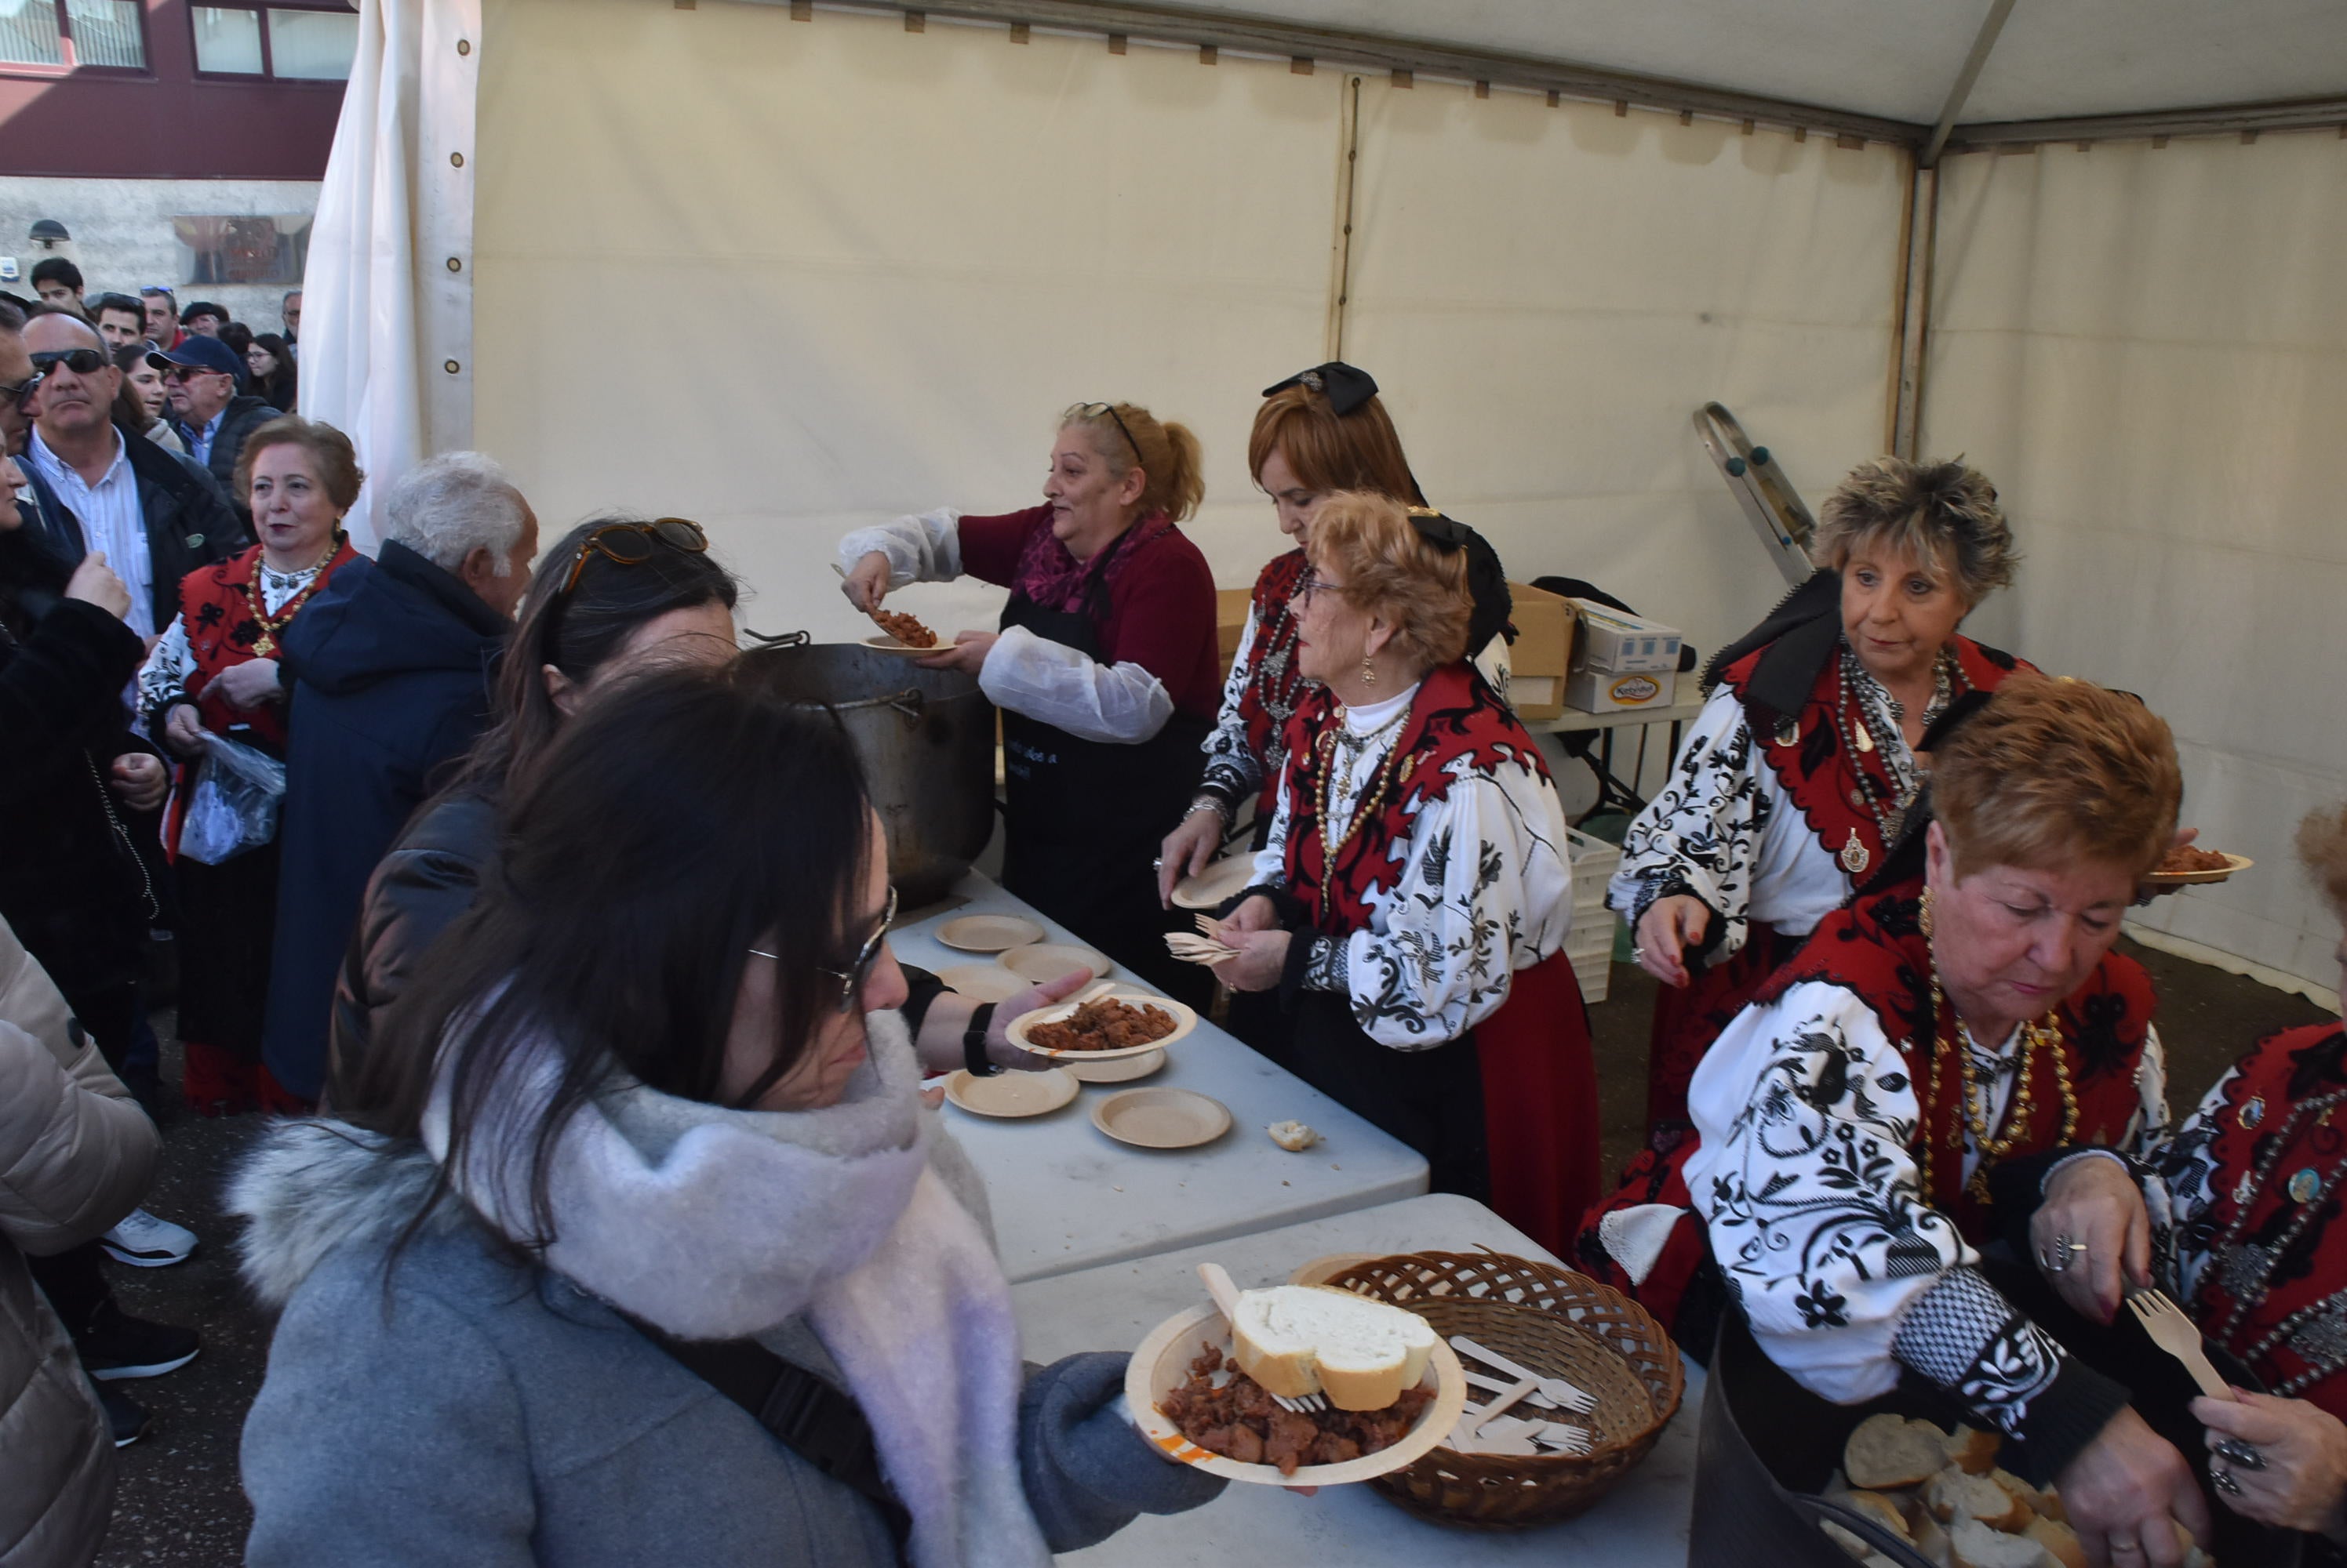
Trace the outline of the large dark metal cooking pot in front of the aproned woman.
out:
M 857 643 L 777 641 L 742 657 L 775 692 L 847 730 L 899 901 L 946 897 L 995 831 L 995 704 L 979 683 Z

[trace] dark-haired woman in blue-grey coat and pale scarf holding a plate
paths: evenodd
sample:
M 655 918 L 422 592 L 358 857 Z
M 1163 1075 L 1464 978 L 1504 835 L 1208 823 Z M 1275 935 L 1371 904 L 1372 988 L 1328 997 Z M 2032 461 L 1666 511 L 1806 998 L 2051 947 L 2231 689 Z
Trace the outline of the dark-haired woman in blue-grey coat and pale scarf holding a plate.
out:
M 1127 1357 L 1021 1368 L 857 756 L 732 671 L 556 735 L 350 1124 L 239 1174 L 249 1563 L 1042 1568 L 1220 1491 Z

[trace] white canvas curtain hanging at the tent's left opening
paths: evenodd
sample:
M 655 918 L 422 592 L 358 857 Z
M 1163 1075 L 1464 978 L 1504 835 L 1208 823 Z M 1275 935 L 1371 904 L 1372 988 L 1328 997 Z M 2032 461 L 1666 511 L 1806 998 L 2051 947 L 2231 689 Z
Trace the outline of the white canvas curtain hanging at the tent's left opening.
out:
M 300 404 L 359 448 L 371 484 L 347 523 L 361 549 L 397 474 L 469 444 L 479 38 L 479 0 L 359 7 L 303 275 Z

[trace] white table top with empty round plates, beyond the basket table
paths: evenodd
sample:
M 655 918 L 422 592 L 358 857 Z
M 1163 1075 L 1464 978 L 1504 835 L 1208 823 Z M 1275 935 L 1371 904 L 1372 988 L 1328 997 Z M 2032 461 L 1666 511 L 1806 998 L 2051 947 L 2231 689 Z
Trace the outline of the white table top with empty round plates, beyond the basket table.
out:
M 1047 941 L 1077 941 L 979 873 L 969 873 L 955 897 L 967 901 L 890 932 L 899 962 L 922 969 L 990 962 L 986 953 L 960 953 L 936 941 L 936 927 L 960 915 L 1026 915 L 1047 930 Z M 1122 969 L 1110 974 L 1138 984 Z M 1117 1143 L 1091 1124 L 1101 1099 L 1159 1084 L 1223 1101 L 1230 1131 L 1199 1148 L 1152 1150 Z M 1204 1019 L 1166 1047 L 1162 1070 L 1138 1082 L 1084 1084 L 1075 1101 L 1040 1117 L 981 1117 L 953 1103 L 943 1115 L 986 1176 L 1002 1268 L 1012 1282 L 1371 1209 L 1427 1190 L 1425 1155 Z M 1326 1141 L 1300 1155 L 1286 1153 L 1263 1131 L 1286 1120 L 1310 1122 Z

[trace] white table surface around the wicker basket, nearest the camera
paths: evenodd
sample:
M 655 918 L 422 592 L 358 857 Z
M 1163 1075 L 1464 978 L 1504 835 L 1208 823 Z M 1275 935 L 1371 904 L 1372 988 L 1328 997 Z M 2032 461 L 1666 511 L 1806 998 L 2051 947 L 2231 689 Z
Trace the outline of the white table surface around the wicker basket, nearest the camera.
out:
M 1185 1307 L 1206 1300 L 1197 1265 L 1213 1258 L 1246 1286 L 1281 1284 L 1307 1258 L 1340 1251 L 1472 1251 L 1490 1246 L 1556 1263 L 1483 1204 L 1434 1192 L 1382 1209 L 1354 1209 L 1213 1246 L 1183 1246 L 1035 1279 L 1012 1291 L 1021 1347 L 1030 1361 L 1080 1350 L 1124 1350 Z M 1429 1568 L 1432 1563 L 1577 1563 L 1648 1568 L 1687 1559 L 1695 1491 L 1695 1425 L 1704 1371 L 1687 1366 L 1687 1394 L 1638 1469 L 1587 1514 L 1540 1530 L 1481 1533 L 1427 1523 L 1368 1486 L 1331 1486 L 1312 1498 L 1277 1486 L 1232 1483 L 1188 1514 L 1143 1514 L 1096 1547 L 1061 1556 L 1080 1568 L 1232 1568 L 1235 1563 L 1345 1563 L 1345 1568 Z

